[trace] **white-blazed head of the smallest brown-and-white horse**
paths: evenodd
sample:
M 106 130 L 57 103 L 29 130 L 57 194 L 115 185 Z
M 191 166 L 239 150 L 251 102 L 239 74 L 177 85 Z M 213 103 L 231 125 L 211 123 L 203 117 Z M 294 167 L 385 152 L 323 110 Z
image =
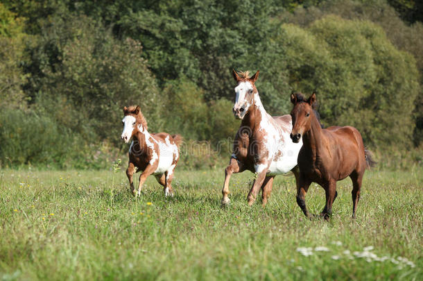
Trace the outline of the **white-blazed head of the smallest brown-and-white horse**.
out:
M 123 131 L 121 139 L 128 143 L 130 139 L 138 132 L 143 133 L 147 130 L 146 119 L 139 110 L 139 105 L 123 108 L 124 117 L 122 119 Z

